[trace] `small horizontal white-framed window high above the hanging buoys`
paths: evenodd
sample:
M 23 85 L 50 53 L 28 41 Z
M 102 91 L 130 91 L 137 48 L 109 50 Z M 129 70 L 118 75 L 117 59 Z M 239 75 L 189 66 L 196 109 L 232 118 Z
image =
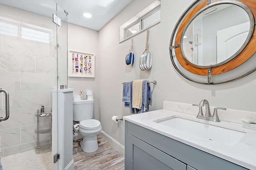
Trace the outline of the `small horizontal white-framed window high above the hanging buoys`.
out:
M 156 0 L 139 14 L 120 26 L 120 42 L 161 21 L 160 0 Z

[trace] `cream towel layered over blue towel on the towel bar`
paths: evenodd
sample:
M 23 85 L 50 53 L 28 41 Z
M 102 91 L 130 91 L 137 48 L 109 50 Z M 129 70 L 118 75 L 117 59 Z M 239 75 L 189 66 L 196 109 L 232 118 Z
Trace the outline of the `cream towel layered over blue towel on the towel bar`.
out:
M 134 80 L 132 83 L 132 108 L 142 108 L 142 82 L 143 80 Z

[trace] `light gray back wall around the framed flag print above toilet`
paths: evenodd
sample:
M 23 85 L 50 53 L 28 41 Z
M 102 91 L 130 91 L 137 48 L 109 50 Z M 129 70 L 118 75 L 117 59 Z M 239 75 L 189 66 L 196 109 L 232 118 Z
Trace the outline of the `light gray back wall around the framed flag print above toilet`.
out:
M 68 23 L 68 50 L 95 54 L 95 78 L 68 77 L 68 88 L 74 88 L 73 95 L 80 95 L 80 90 L 93 90 L 94 97 L 94 119 L 99 119 L 99 92 L 98 80 L 98 31 Z

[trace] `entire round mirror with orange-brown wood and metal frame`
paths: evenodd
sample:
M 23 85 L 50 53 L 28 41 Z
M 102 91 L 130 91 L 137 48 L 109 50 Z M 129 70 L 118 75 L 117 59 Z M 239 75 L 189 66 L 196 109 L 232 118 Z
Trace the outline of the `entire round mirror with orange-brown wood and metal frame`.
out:
M 256 5 L 247 0 L 196 0 L 182 14 L 170 40 L 170 56 L 182 76 L 222 84 L 256 70 Z M 250 65 L 250 66 L 248 66 Z

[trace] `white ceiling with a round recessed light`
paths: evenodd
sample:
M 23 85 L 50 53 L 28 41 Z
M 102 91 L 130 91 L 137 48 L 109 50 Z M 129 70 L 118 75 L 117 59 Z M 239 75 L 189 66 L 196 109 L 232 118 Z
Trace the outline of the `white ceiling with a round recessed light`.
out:
M 100 30 L 108 21 L 118 14 L 132 0 L 0 0 L 0 3 L 36 12 L 52 17 L 56 14 L 56 3 L 58 16 L 68 12 L 68 22 Z M 92 14 L 92 18 L 85 18 L 84 12 Z M 62 18 L 62 17 L 60 17 Z

